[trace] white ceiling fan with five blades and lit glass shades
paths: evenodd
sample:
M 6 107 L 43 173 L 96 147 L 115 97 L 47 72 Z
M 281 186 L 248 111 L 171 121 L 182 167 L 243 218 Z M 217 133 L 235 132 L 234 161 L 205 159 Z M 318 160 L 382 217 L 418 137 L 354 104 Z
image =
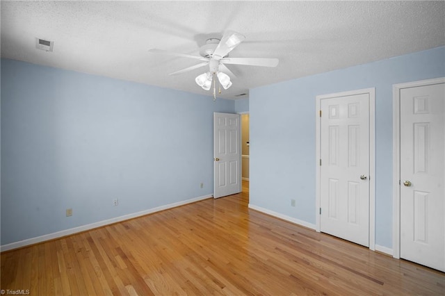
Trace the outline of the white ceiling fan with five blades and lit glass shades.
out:
M 183 58 L 194 58 L 195 60 L 201 60 L 202 63 L 193 65 L 191 67 L 186 67 L 177 72 L 170 73 L 170 75 L 183 74 L 185 72 L 204 67 L 209 65 L 209 71 L 198 75 L 195 78 L 197 85 L 200 85 L 204 90 L 210 90 L 212 81 L 213 83 L 213 97 L 216 97 L 216 79 L 218 78 L 220 85 L 223 86 L 225 90 L 232 86 L 232 81 L 230 81 L 230 76 L 236 77 L 232 71 L 229 70 L 225 65 L 250 65 L 250 66 L 262 66 L 262 67 L 277 67 L 277 58 L 229 58 L 228 54 L 235 47 L 237 47 L 245 39 L 244 35 L 236 33 L 235 31 L 227 31 L 223 38 L 210 38 L 207 40 L 206 44 L 200 47 L 200 56 L 192 56 L 190 54 L 180 54 L 173 51 L 165 51 L 162 49 L 149 49 L 149 52 L 154 54 L 168 54 L 170 56 L 180 56 Z M 230 76 L 229 76 L 229 75 Z M 221 91 L 220 91 L 221 92 Z

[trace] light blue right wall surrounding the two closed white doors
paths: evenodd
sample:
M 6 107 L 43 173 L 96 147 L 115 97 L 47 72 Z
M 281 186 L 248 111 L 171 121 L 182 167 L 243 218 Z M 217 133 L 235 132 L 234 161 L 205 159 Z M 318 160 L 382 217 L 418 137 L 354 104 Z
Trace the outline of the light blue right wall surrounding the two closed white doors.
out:
M 441 76 L 445 47 L 250 90 L 250 204 L 315 224 L 316 96 L 375 88 L 375 243 L 391 248 L 392 85 Z

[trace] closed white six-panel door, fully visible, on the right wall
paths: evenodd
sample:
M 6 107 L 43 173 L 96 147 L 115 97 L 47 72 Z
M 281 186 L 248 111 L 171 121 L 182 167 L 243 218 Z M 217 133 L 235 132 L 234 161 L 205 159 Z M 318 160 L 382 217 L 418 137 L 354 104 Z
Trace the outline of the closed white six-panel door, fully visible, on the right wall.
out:
M 320 230 L 369 247 L 370 94 L 321 99 Z

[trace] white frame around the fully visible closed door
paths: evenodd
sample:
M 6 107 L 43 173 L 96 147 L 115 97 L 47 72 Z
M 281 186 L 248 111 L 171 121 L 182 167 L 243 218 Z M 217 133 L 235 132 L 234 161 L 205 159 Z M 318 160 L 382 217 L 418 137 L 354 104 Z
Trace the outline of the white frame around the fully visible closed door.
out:
M 375 250 L 375 88 L 335 92 L 316 96 L 316 231 L 321 232 L 321 99 L 369 94 L 369 249 Z

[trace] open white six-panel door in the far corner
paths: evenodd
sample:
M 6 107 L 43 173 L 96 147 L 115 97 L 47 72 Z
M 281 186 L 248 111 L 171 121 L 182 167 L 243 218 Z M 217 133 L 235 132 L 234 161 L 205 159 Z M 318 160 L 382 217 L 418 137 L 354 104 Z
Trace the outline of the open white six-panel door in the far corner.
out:
M 241 192 L 240 115 L 213 113 L 213 197 Z

